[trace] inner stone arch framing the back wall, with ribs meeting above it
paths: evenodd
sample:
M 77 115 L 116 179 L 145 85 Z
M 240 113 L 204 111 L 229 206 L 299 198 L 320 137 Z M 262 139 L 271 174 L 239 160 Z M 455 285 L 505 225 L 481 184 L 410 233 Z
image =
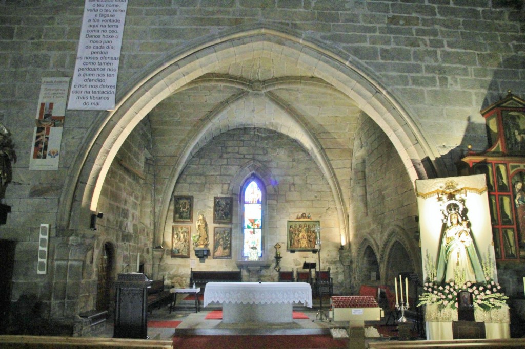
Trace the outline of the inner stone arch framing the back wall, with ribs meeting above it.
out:
M 228 129 L 240 127 L 260 127 L 275 130 L 276 132 L 283 133 L 293 139 L 296 139 L 298 143 L 309 152 L 314 161 L 316 161 L 318 167 L 323 173 L 323 176 L 332 189 L 336 209 L 338 211 L 341 242 L 344 245 L 344 242 L 348 241 L 348 221 L 344 218 L 344 212 L 346 212 L 346 210 L 344 209 L 343 204 L 342 189 L 337 181 L 337 177 L 334 174 L 334 170 L 330 165 L 327 155 L 322 150 L 322 146 L 318 139 L 310 132 L 302 116 L 297 111 L 295 111 L 292 106 L 286 104 L 284 101 L 280 100 L 279 97 L 271 93 L 272 89 L 288 87 L 290 85 L 297 85 L 299 83 L 311 84 L 313 86 L 328 86 L 325 82 L 322 82 L 319 79 L 302 79 L 300 77 L 287 78 L 283 79 L 282 84 L 280 84 L 278 81 L 272 80 L 267 85 L 266 82 L 249 82 L 245 79 L 239 79 L 239 81 L 236 81 L 234 78 L 228 77 L 227 75 L 216 74 L 213 74 L 209 77 L 205 76 L 203 78 L 199 78 L 188 84 L 191 87 L 196 85 L 226 84 L 230 86 L 237 86 L 241 89 L 250 90 L 237 93 L 228 100 L 221 103 L 215 108 L 214 111 L 209 113 L 203 119 L 198 128 L 195 130 L 195 133 L 190 137 L 190 139 L 188 139 L 188 142 L 182 151 L 182 155 L 177 158 L 177 163 L 173 167 L 172 172 L 168 177 L 169 180 L 163 190 L 160 215 L 157 217 L 158 225 L 155 230 L 157 234 L 161 235 L 155 239 L 156 244 L 162 244 L 164 226 L 167 219 L 167 211 L 169 210 L 169 204 L 171 200 L 171 193 L 173 192 L 178 176 L 180 176 L 182 173 L 184 167 L 187 164 L 187 161 L 190 160 L 190 158 L 214 136 L 225 132 Z M 257 91 L 253 91 L 251 89 L 252 86 L 256 86 Z M 243 119 L 236 117 L 235 119 L 232 119 L 228 117 L 228 111 L 235 109 L 236 104 L 242 103 L 246 99 L 257 100 L 261 98 L 265 98 L 279 110 L 278 114 L 281 116 L 281 121 L 277 120 L 279 117 L 272 118 L 267 116 L 267 113 L 263 113 L 264 115 L 258 115 L 255 118 L 249 117 Z

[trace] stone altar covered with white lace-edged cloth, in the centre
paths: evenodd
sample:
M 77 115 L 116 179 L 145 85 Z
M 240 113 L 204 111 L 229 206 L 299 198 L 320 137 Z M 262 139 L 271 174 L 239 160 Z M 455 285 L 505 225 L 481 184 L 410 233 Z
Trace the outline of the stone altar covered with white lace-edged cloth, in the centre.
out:
M 204 307 L 223 306 L 223 322 L 293 322 L 293 303 L 312 307 L 312 289 L 306 282 L 208 282 Z

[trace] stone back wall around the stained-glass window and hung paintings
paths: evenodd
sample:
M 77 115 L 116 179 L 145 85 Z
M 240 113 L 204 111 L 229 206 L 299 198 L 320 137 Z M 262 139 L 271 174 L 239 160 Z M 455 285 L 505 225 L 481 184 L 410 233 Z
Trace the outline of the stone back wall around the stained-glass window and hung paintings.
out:
M 194 213 L 191 233 L 195 234 L 195 219 L 198 212 L 203 212 L 208 222 L 210 249 L 213 246 L 213 232 L 217 226 L 213 223 L 213 199 L 216 196 L 233 197 L 232 258 L 213 259 L 208 257 L 204 263 L 198 261 L 190 252 L 190 259 L 171 258 L 172 224 L 164 230 L 164 244 L 168 248 L 161 265 L 161 274 L 166 275 L 174 285 L 187 287 L 190 267 L 195 270 L 238 270 L 236 260 L 240 257 L 240 243 L 243 241 L 239 232 L 240 208 L 239 190 L 243 181 L 251 173 L 262 180 L 271 180 L 267 185 L 267 201 L 264 206 L 264 252 L 265 260 L 273 260 L 275 244 L 281 248 L 281 269 L 302 270 L 304 261 L 317 262 L 318 256 L 311 252 L 286 251 L 288 220 L 293 220 L 298 213 L 310 213 L 312 220 L 320 220 L 321 225 L 321 267 L 330 267 L 335 275 L 340 275 L 341 265 L 337 249 L 340 246 L 339 230 L 334 212 L 334 201 L 328 183 L 323 179 L 313 159 L 297 144 L 285 135 L 259 128 L 241 128 L 231 130 L 214 137 L 204 148 L 195 154 L 183 171 L 174 195 L 192 195 Z M 173 204 L 168 213 L 173 217 Z M 177 223 L 176 225 L 188 225 Z M 307 257 L 307 258 L 304 258 Z M 275 265 L 262 270 L 261 278 L 277 281 Z M 340 280 L 341 281 L 341 280 Z

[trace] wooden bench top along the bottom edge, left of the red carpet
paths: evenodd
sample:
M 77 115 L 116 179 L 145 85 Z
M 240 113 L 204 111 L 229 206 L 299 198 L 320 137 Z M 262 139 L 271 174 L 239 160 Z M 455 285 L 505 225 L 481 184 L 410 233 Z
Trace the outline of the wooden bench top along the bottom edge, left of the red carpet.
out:
M 80 348 L 135 348 L 171 349 L 173 341 L 100 338 L 100 337 L 55 337 L 0 335 L 5 349 L 80 349 Z

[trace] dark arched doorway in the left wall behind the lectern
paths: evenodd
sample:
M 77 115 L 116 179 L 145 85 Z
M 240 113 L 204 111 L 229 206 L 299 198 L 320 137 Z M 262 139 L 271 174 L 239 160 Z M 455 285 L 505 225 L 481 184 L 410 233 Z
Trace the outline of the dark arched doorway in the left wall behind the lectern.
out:
M 114 251 L 105 243 L 98 261 L 97 310 L 109 310 L 113 295 Z

